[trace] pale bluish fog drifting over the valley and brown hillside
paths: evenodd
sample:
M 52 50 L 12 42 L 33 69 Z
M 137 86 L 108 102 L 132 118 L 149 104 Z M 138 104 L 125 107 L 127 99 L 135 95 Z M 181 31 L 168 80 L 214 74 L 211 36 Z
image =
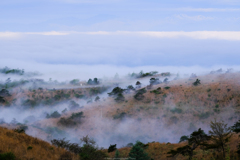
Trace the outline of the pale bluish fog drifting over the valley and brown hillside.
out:
M 69 68 L 73 66 L 68 66 Z M 86 67 L 86 66 L 85 66 Z M 95 66 L 96 67 L 96 66 Z M 71 72 L 66 76 L 64 71 L 67 73 L 66 66 L 60 69 L 54 67 L 49 67 L 48 70 L 43 70 L 43 72 L 38 72 L 39 74 L 32 76 L 24 76 L 24 75 L 14 75 L 14 74 L 1 74 L 1 83 L 6 83 L 6 78 L 10 78 L 14 80 L 23 80 L 28 79 L 30 82 L 19 85 L 13 88 L 9 88 L 10 94 L 14 95 L 16 101 L 11 103 L 10 106 L 5 105 L 0 108 L 0 119 L 1 123 L 5 127 L 14 128 L 17 127 L 17 123 L 21 123 L 27 125 L 29 128 L 26 133 L 41 138 L 43 140 L 49 141 L 52 139 L 58 138 L 66 138 L 71 140 L 71 142 L 79 143 L 79 139 L 82 136 L 89 135 L 93 137 L 97 144 L 101 147 L 107 148 L 110 144 L 117 144 L 118 147 L 122 147 L 127 145 L 128 143 L 134 143 L 137 140 L 141 140 L 145 143 L 158 141 L 158 142 L 178 142 L 179 138 L 182 135 L 190 134 L 194 129 L 202 128 L 206 132 L 210 129 L 208 123 L 204 123 L 202 121 L 193 120 L 192 122 L 185 122 L 187 117 L 182 117 L 182 119 L 178 119 L 178 124 L 175 124 L 174 120 L 172 122 L 171 116 L 172 110 L 178 108 L 177 105 L 171 97 L 181 97 L 181 95 L 168 95 L 165 98 L 165 104 L 159 108 L 157 103 L 147 104 L 145 102 L 138 102 L 133 100 L 134 93 L 124 94 L 126 102 L 116 103 L 114 98 L 109 97 L 107 93 L 111 92 L 112 89 L 116 86 L 119 86 L 125 89 L 128 85 L 133 85 L 135 87 L 136 81 L 140 81 L 142 83 L 142 87 L 146 87 L 149 85 L 149 79 L 151 77 L 159 78 L 163 81 L 166 77 L 162 77 L 159 75 L 163 72 L 170 72 L 171 76 L 167 77 L 169 84 L 162 83 L 160 86 L 162 88 L 166 86 L 176 86 L 176 85 L 189 85 L 185 82 L 189 81 L 189 77 L 192 73 L 196 74 L 203 85 L 207 85 L 211 83 L 211 79 L 204 78 L 205 76 L 211 75 L 216 76 L 214 79 L 216 82 L 220 81 L 217 78 L 218 75 L 225 75 L 229 68 L 233 66 L 225 66 L 222 68 L 221 72 L 216 72 L 219 66 L 212 67 L 211 70 L 205 67 L 193 66 L 193 67 L 154 67 L 154 66 L 146 66 L 142 67 L 107 67 L 101 66 L 103 68 L 108 69 L 105 71 L 106 75 L 103 76 L 103 73 L 94 72 L 94 67 L 89 67 L 89 76 L 88 78 L 103 77 L 102 82 L 99 85 L 71 85 L 69 82 L 72 79 L 80 79 L 84 82 L 88 80 L 87 77 L 81 75 L 84 69 L 80 69 L 80 71 L 75 72 L 76 70 L 71 70 Z M 46 67 L 47 68 L 47 67 Z M 81 67 L 80 67 L 81 68 Z M 92 72 L 91 72 L 92 68 Z M 54 72 L 55 69 L 55 72 Z M 71 68 L 72 69 L 72 68 Z M 98 66 L 99 69 L 99 66 Z M 28 70 L 24 69 L 26 75 L 28 75 Z M 52 71 L 50 71 L 52 70 Z M 104 69 L 103 69 L 104 70 Z M 144 78 L 129 78 L 127 75 L 130 73 L 139 73 L 140 71 L 158 71 L 158 75 L 144 77 Z M 235 67 L 231 70 L 233 73 L 238 73 L 239 67 Z M 62 73 L 60 72 L 62 71 Z M 214 74 L 209 74 L 210 71 L 215 71 Z M 52 72 L 51 78 L 49 81 L 48 73 Z M 96 74 L 94 74 L 96 73 Z M 118 77 L 116 77 L 116 73 L 118 73 Z M 144 72 L 145 73 L 145 72 Z M 102 75 L 101 75 L 102 74 Z M 98 76 L 99 75 L 99 76 Z M 178 80 L 175 78 L 178 76 Z M 61 77 L 61 78 L 60 78 Z M 43 82 L 35 82 L 36 79 L 44 79 Z M 85 79 L 84 79 L 85 78 Z M 230 77 L 228 77 L 230 78 Z M 54 82 L 54 80 L 58 80 L 58 82 Z M 81 83 L 81 81 L 80 81 Z M 177 84 L 176 84 L 177 83 Z M 189 82 L 188 82 L 189 83 Z M 222 82 L 221 82 L 222 83 Z M 237 84 L 239 85 L 239 84 Z M 53 103 L 52 105 L 44 105 L 44 103 L 39 103 L 35 106 L 29 106 L 27 103 L 27 99 L 39 99 L 42 97 L 43 101 L 46 97 L 50 96 L 54 98 L 54 95 L 58 94 L 57 92 L 63 92 L 64 94 L 71 94 L 73 89 L 74 93 L 78 93 L 78 89 L 80 89 L 82 94 L 85 94 L 87 89 L 96 88 L 106 86 L 107 88 L 103 90 L 101 93 L 93 94 L 92 96 L 87 96 L 84 99 L 70 98 L 63 99 L 60 101 L 56 101 L 57 103 Z M 4 87 L 3 87 L 4 88 Z M 43 88 L 43 91 L 39 90 L 39 88 Z M 56 90 L 52 90 L 52 89 Z M 50 90 L 49 90 L 50 89 Z M 48 91 L 49 90 L 49 91 Z M 52 91 L 51 91 L 52 90 Z M 153 89 L 152 89 L 153 90 Z M 80 92 L 79 92 L 80 93 Z M 178 94 L 182 94 L 177 92 Z M 32 94 L 35 94 L 33 97 Z M 99 102 L 95 102 L 94 99 L 96 96 L 100 97 Z M 45 97 L 45 98 L 44 98 Z M 152 97 L 154 99 L 154 97 Z M 78 104 L 78 107 L 75 109 L 71 109 L 71 100 L 74 100 Z M 191 104 L 183 106 L 182 110 L 186 113 L 186 116 L 191 117 L 194 114 L 204 114 L 208 112 L 208 109 L 204 107 L 202 101 L 198 98 L 198 95 L 192 95 Z M 45 100 L 46 101 L 46 100 Z M 44 101 L 44 102 L 45 102 Z M 152 101 L 152 100 L 151 100 Z M 156 101 L 156 100 L 155 100 Z M 28 105 L 24 105 L 25 103 Z M 131 108 L 124 108 L 125 105 L 130 105 Z M 194 110 L 189 107 L 198 105 L 199 107 L 194 107 Z M 66 110 L 65 110 L 66 109 Z M 64 111 L 65 110 L 65 111 Z M 188 110 L 191 110 L 190 112 Z M 61 114 L 62 117 L 69 117 L 72 113 L 84 113 L 84 118 L 82 118 L 81 123 L 76 127 L 67 127 L 58 124 L 59 118 L 47 118 L 47 114 L 51 115 L 53 112 L 57 111 Z M 128 113 L 127 116 L 123 116 L 120 119 L 114 118 L 114 116 L 119 116 L 121 113 Z M 188 113 L 189 112 L 189 113 Z M 234 115 L 234 108 L 232 105 L 229 106 L 218 114 L 217 116 L 213 116 L 215 118 L 226 120 L 229 124 L 232 124 L 233 121 L 229 121 L 229 117 Z M 168 117 L 168 118 L 165 118 Z M 211 117 L 212 118 L 212 117 Z M 4 122 L 4 123 L 3 123 Z M 194 124 L 191 126 L 191 123 Z

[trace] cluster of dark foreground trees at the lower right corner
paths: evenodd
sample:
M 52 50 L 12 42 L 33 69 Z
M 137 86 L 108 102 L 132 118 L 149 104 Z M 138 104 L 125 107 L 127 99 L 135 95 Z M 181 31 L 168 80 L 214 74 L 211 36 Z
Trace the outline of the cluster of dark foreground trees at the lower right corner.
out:
M 217 155 L 218 159 L 229 159 L 227 148 L 229 145 L 230 138 L 233 135 L 233 132 L 240 133 L 240 120 L 236 122 L 232 127 L 228 127 L 223 121 L 211 121 L 210 123 L 211 130 L 206 134 L 201 128 L 197 131 L 194 131 L 190 136 L 182 136 L 180 142 L 187 141 L 187 145 L 179 147 L 176 150 L 171 150 L 168 152 L 169 157 L 175 157 L 179 154 L 183 156 L 188 156 L 189 160 L 192 160 L 194 150 L 197 148 L 203 150 L 211 150 L 219 152 L 220 155 Z M 240 153 L 240 144 L 238 145 L 238 151 Z

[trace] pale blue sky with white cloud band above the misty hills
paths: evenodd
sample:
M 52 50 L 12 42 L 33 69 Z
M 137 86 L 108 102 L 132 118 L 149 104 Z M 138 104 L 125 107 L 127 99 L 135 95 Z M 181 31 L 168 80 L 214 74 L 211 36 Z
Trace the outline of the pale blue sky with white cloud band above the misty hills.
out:
M 0 67 L 231 67 L 239 46 L 239 0 L 0 1 Z

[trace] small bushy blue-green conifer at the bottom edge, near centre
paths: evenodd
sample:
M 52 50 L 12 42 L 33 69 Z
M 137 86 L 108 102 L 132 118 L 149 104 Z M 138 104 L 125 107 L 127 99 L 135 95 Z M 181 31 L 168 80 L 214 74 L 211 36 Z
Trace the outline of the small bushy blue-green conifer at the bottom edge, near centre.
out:
M 135 158 L 135 160 L 150 160 L 148 154 L 144 151 L 147 146 L 142 142 L 137 141 L 136 144 L 132 147 L 129 153 L 129 160 Z

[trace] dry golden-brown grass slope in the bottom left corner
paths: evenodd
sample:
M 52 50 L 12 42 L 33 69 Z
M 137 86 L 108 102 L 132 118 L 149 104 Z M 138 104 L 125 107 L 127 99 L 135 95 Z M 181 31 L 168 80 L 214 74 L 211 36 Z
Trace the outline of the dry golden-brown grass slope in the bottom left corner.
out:
M 59 160 L 67 151 L 24 133 L 0 127 L 0 153 L 5 152 L 12 152 L 21 160 Z M 72 156 L 72 160 L 79 159 L 78 155 L 68 154 Z

